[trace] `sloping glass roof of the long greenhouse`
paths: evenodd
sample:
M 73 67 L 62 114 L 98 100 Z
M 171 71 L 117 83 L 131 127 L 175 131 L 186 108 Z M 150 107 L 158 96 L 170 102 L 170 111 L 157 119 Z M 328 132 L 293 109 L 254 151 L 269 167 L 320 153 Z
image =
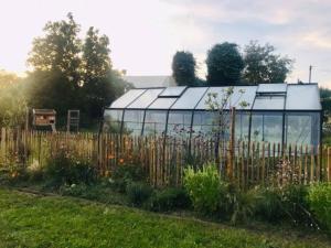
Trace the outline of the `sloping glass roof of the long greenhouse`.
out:
M 160 87 L 130 89 L 116 99 L 115 109 L 205 110 L 206 100 L 215 94 L 218 103 L 228 87 Z M 247 104 L 243 107 L 243 103 Z M 321 110 L 317 84 L 259 84 L 234 86 L 225 109 L 241 110 Z

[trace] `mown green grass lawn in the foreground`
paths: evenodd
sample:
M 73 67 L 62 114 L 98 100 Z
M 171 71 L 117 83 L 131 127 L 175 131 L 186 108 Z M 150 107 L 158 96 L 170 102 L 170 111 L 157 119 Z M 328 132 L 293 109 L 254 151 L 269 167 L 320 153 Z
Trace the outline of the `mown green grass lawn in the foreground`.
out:
M 331 247 L 318 237 L 247 230 L 0 188 L 0 247 Z

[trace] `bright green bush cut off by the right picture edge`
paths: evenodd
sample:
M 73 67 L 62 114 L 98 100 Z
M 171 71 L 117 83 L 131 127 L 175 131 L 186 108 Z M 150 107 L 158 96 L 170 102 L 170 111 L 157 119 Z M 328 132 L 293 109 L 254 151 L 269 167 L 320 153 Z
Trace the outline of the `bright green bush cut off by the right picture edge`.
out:
M 318 222 L 331 233 L 331 184 L 311 185 L 308 190 L 307 202 Z

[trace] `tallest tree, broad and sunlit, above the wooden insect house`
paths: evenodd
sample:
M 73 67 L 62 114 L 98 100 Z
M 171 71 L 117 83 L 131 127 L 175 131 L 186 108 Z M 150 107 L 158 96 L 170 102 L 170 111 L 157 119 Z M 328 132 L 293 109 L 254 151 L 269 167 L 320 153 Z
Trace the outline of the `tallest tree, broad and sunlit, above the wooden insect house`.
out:
M 47 22 L 44 35 L 34 39 L 28 63 L 29 103 L 35 108 L 54 108 L 60 115 L 79 106 L 82 45 L 79 25 L 67 20 Z

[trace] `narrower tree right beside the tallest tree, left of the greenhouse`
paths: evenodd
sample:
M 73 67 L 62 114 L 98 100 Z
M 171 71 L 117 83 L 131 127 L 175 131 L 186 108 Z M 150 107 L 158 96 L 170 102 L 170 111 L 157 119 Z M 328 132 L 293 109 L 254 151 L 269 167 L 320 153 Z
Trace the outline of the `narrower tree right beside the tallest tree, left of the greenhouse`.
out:
M 99 118 L 103 107 L 109 106 L 115 98 L 109 39 L 98 32 L 89 28 L 83 45 L 84 109 L 92 119 Z

